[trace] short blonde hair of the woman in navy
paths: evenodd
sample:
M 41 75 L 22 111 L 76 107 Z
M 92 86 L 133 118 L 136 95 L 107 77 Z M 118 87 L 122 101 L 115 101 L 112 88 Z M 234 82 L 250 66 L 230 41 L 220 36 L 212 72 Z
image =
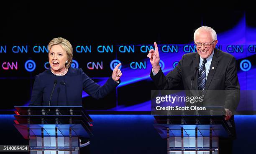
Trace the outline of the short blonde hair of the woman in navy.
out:
M 50 51 L 51 47 L 54 45 L 61 45 L 61 47 L 64 49 L 64 51 L 66 51 L 67 61 L 68 61 L 68 63 L 66 63 L 66 68 L 69 68 L 72 64 L 72 59 L 73 59 L 72 45 L 65 38 L 54 38 L 50 41 L 50 43 L 48 45 L 48 50 Z

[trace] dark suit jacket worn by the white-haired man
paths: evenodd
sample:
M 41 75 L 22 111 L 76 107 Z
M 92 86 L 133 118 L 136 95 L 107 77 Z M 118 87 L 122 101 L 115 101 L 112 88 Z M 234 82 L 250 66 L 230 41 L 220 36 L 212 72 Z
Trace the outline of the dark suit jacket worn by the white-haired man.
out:
M 150 76 L 160 90 L 170 90 L 180 83 L 183 83 L 184 90 L 190 90 L 191 83 L 191 90 L 198 90 L 199 72 L 196 68 L 199 62 L 198 53 L 187 53 L 166 76 L 161 69 L 155 76 L 151 71 Z M 193 95 L 198 96 L 198 93 Z M 223 106 L 231 111 L 236 109 L 240 98 L 240 85 L 236 72 L 236 59 L 232 55 L 215 49 L 203 95 L 204 106 Z

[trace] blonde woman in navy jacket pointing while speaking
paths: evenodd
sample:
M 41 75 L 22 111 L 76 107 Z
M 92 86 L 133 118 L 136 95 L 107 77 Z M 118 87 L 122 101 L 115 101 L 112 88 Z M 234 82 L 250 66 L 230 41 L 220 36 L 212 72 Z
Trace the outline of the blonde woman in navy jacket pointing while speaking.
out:
M 100 86 L 82 69 L 70 67 L 73 48 L 68 40 L 54 38 L 48 49 L 51 68 L 36 76 L 30 106 L 82 106 L 82 91 L 99 99 L 113 91 L 120 83 L 122 72 L 118 67 L 121 63 L 115 67 L 108 81 Z

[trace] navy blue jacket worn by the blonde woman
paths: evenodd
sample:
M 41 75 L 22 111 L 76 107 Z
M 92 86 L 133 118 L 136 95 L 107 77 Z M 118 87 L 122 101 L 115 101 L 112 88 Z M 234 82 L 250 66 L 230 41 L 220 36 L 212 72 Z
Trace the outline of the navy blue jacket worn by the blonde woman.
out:
M 36 76 L 29 106 L 49 106 L 54 81 L 57 81 L 51 97 L 51 106 L 82 106 L 82 91 L 96 99 L 103 98 L 118 84 L 112 77 L 100 86 L 82 69 L 69 68 L 64 76 L 56 76 L 48 69 Z

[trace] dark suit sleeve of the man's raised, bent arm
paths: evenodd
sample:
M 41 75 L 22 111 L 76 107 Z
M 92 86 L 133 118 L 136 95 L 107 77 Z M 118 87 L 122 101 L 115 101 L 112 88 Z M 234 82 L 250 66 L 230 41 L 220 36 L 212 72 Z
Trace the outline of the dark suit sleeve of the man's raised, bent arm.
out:
M 182 56 L 182 59 L 179 61 L 179 63 L 173 69 L 173 71 L 170 71 L 166 76 L 164 76 L 164 73 L 161 69 L 155 76 L 151 71 L 150 77 L 152 78 L 156 87 L 159 90 L 170 90 L 181 83 L 183 59 L 184 59 L 184 56 Z

